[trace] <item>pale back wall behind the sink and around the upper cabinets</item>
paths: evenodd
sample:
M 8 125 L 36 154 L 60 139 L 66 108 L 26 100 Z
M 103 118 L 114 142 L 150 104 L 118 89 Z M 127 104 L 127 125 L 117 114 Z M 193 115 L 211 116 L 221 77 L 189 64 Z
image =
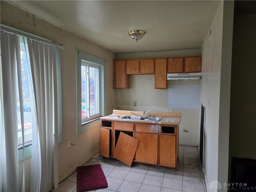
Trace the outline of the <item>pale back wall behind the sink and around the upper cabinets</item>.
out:
M 117 59 L 143 59 L 200 56 L 200 49 L 176 50 L 165 52 L 117 54 Z M 168 81 L 175 84 L 200 84 L 198 81 Z M 182 145 L 198 146 L 199 109 L 168 108 L 168 89 L 154 89 L 154 75 L 130 75 L 130 89 L 118 89 L 118 109 L 145 110 L 162 112 L 181 112 L 179 142 Z M 136 101 L 137 106 L 123 104 Z M 199 104 L 198 104 L 199 108 Z M 183 132 L 182 129 L 187 130 Z

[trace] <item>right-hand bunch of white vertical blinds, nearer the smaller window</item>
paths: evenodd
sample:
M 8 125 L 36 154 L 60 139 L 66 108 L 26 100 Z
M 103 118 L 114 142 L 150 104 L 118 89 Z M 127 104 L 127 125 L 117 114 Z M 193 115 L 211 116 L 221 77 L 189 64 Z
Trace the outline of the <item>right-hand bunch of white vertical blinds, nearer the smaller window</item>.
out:
M 56 48 L 28 40 L 28 50 L 38 124 L 38 130 L 32 133 L 30 190 L 50 191 L 52 190 L 53 166 L 55 189 L 58 188 Z

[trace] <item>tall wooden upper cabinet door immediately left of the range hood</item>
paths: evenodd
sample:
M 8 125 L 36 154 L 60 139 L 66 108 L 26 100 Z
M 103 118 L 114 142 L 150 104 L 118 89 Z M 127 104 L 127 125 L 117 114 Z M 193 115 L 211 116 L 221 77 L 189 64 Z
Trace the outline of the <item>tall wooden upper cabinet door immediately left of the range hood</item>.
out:
M 167 63 L 166 59 L 155 60 L 155 89 L 167 87 Z

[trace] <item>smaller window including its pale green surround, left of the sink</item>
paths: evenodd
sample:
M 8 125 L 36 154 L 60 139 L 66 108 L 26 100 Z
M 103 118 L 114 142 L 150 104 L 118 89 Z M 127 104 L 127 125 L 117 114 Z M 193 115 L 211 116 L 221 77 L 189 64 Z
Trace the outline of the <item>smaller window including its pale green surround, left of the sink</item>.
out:
M 104 115 L 104 64 L 101 58 L 76 51 L 77 134 L 94 128 L 94 121 Z

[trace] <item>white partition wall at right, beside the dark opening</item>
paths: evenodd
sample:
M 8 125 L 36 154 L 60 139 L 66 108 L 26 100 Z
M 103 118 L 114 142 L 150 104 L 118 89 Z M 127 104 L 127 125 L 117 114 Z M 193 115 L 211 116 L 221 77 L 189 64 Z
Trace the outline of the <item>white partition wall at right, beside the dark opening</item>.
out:
M 220 3 L 211 25 L 212 37 L 209 40 L 206 36 L 202 45 L 200 100 L 206 107 L 204 174 L 207 188 L 212 181 L 218 180 L 223 186 L 228 179 L 233 4 L 233 1 Z

